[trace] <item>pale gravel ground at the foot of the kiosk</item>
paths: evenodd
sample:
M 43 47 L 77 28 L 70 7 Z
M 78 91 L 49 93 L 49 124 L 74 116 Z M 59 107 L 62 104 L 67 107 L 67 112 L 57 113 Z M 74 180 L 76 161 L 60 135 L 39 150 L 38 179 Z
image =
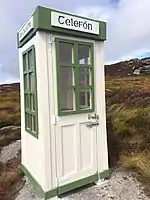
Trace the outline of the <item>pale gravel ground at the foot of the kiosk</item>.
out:
M 102 186 L 78 190 L 61 200 L 150 200 L 145 196 L 141 184 L 132 173 L 116 170 L 110 180 Z M 42 200 L 28 181 L 15 200 Z

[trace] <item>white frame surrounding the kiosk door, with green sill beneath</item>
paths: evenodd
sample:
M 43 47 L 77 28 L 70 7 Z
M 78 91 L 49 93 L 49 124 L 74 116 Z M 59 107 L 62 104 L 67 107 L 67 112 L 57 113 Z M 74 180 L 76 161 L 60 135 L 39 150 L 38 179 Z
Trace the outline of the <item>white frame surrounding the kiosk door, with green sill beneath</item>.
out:
M 50 48 L 50 51 L 49 53 L 51 53 L 51 59 L 52 60 L 49 60 L 49 63 L 51 63 L 51 67 L 52 67 L 52 74 L 50 75 L 50 82 L 51 82 L 51 91 L 53 91 L 53 95 L 51 94 L 51 99 L 52 102 L 53 102 L 53 106 L 51 105 L 51 110 L 52 110 L 52 113 L 53 113 L 53 117 L 51 118 L 51 131 L 53 132 L 52 133 L 52 141 L 55 141 L 55 144 L 53 144 L 55 146 L 55 152 L 54 154 L 56 155 L 56 135 L 55 135 L 55 125 L 56 125 L 56 121 L 57 119 L 60 119 L 61 117 L 65 117 L 65 116 L 58 116 L 58 102 L 56 103 L 56 101 L 58 101 L 57 99 L 57 88 L 55 88 L 54 86 L 57 85 L 57 70 L 56 70 L 56 60 L 54 58 L 56 58 L 56 52 L 55 52 L 55 39 L 56 38 L 59 38 L 59 39 L 65 39 L 65 40 L 75 40 L 75 41 L 80 41 L 80 42 L 83 42 L 86 41 L 87 43 L 92 43 L 93 44 L 93 50 L 95 51 L 98 51 L 98 53 L 100 54 L 100 56 L 98 57 L 97 55 L 95 55 L 95 57 L 93 58 L 94 59 L 94 79 L 95 79 L 95 83 L 97 82 L 97 80 L 99 79 L 99 73 L 102 73 L 102 76 L 104 76 L 104 66 L 103 66 L 103 52 L 101 51 L 101 47 L 103 49 L 103 42 L 98 42 L 98 41 L 93 41 L 93 40 L 89 40 L 89 39 L 80 39 L 80 38 L 76 38 L 76 37 L 66 37 L 66 36 L 61 36 L 61 35 L 48 35 L 48 41 L 49 41 L 49 38 L 50 38 L 50 44 L 51 44 L 51 48 Z M 97 67 L 99 66 L 99 68 Z M 49 67 L 49 66 L 48 66 Z M 96 70 L 95 70 L 95 67 L 96 67 Z M 98 87 L 95 85 L 94 83 L 94 97 L 95 97 L 95 100 L 97 100 L 97 92 L 98 92 Z M 97 105 L 94 104 L 94 108 L 96 111 L 98 111 L 98 114 L 101 114 L 102 113 L 102 118 L 100 117 L 100 120 L 102 123 L 104 123 L 103 126 L 98 126 L 97 127 L 97 131 L 102 131 L 101 134 L 97 134 L 97 151 L 96 151 L 96 154 L 97 154 L 97 172 L 96 174 L 94 174 L 93 176 L 90 176 L 90 177 L 87 177 L 87 179 L 81 179 L 81 180 L 78 180 L 78 181 L 75 181 L 73 183 L 70 183 L 70 184 L 67 184 L 66 186 L 58 186 L 58 179 L 57 179 L 57 169 L 56 169 L 56 165 L 57 165 L 57 162 L 55 161 L 55 165 L 53 166 L 53 169 L 54 169 L 54 174 L 56 174 L 56 178 L 53 179 L 54 181 L 54 187 L 58 188 L 58 194 L 62 194 L 62 193 L 65 193 L 67 191 L 69 191 L 70 187 L 72 188 L 73 185 L 76 185 L 76 183 L 80 186 L 82 186 L 81 183 L 85 182 L 85 184 L 87 183 L 90 183 L 89 180 L 92 180 L 92 183 L 93 182 L 97 182 L 98 180 L 100 180 L 101 176 L 100 174 L 106 174 L 106 177 L 108 176 L 108 172 L 109 172 L 109 167 L 108 167 L 108 155 L 107 155 L 107 136 L 106 136 L 106 114 L 105 114 L 105 80 L 104 80 L 104 77 L 102 77 L 102 80 L 101 80 L 101 83 L 102 83 L 102 89 L 103 92 L 100 92 L 100 94 L 98 94 L 99 98 L 100 99 L 100 104 Z M 53 88 L 53 89 L 52 89 Z M 104 98 L 100 98 L 100 95 L 104 95 Z M 52 97 L 53 96 L 53 97 Z M 54 103 L 55 102 L 55 103 Z M 94 102 L 95 103 L 95 102 Z M 66 116 L 67 117 L 67 116 Z M 102 158 L 101 158 L 102 156 Z M 57 156 L 55 156 L 56 160 L 57 160 Z M 102 163 L 103 162 L 103 163 Z M 105 175 L 103 175 L 103 177 L 105 177 Z M 94 179 L 94 180 L 93 180 Z M 81 185 L 80 185 L 81 184 Z M 85 185 L 84 184 L 84 185 Z M 74 188 L 75 189 L 75 188 Z

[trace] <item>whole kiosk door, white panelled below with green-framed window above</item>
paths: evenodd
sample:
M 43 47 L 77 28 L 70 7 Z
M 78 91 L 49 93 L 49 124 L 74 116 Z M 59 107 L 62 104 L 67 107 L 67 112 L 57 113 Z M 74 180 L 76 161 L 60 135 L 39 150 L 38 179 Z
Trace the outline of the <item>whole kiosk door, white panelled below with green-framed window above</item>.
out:
M 56 157 L 59 193 L 97 180 L 93 43 L 55 40 Z

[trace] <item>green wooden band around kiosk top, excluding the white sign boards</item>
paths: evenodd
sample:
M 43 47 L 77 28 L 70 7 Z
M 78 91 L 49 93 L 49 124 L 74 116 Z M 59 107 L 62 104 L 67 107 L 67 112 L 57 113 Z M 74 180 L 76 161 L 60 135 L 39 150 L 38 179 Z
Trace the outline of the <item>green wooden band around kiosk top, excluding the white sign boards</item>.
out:
M 96 35 L 96 34 L 75 31 L 75 30 L 70 30 L 70 29 L 65 29 L 65 28 L 60 28 L 60 27 L 54 27 L 51 25 L 52 11 L 59 12 L 60 14 L 61 13 L 67 14 L 72 17 L 79 17 L 84 20 L 91 20 L 94 22 L 98 22 L 99 27 L 100 27 L 99 34 Z M 17 33 L 18 48 L 22 47 L 27 41 L 29 41 L 38 30 L 45 31 L 48 33 L 53 33 L 53 34 L 60 34 L 64 36 L 68 35 L 68 36 L 74 36 L 74 37 L 79 37 L 79 38 L 88 38 L 88 39 L 98 40 L 98 41 L 106 40 L 106 22 L 103 22 L 103 21 L 93 20 L 90 18 L 86 18 L 86 17 L 82 17 L 82 16 L 78 16 L 75 14 L 70 14 L 70 13 L 66 13 L 62 11 L 57 11 L 57 10 L 42 7 L 42 6 L 37 6 L 32 16 L 33 16 L 33 26 L 34 26 L 33 29 L 21 41 L 19 41 L 18 33 Z

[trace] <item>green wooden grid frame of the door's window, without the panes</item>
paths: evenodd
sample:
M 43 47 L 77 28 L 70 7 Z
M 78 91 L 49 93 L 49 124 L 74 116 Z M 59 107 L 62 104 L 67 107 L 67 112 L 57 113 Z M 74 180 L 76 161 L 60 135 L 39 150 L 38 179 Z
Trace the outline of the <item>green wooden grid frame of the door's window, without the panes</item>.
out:
M 74 52 L 74 64 L 70 65 L 70 63 L 66 63 L 67 67 L 74 67 L 74 76 L 75 76 L 75 85 L 70 85 L 70 88 L 73 88 L 75 91 L 75 110 L 71 111 L 62 111 L 61 110 L 61 98 L 60 98 L 60 61 L 59 61 L 59 43 L 71 43 L 73 44 L 73 52 Z M 81 86 L 79 85 L 79 67 L 82 67 L 81 64 L 78 63 L 78 46 L 79 45 L 86 45 L 91 50 L 91 64 L 90 65 L 83 65 L 83 67 L 90 68 L 91 73 L 91 85 L 89 86 Z M 93 43 L 86 43 L 86 42 L 79 42 L 79 41 L 72 41 L 72 40 L 65 40 L 56 38 L 56 70 L 57 70 L 57 99 L 58 99 L 58 115 L 71 115 L 71 114 L 79 114 L 79 113 L 89 113 L 94 111 L 94 48 Z M 81 89 L 90 89 L 91 90 L 91 108 L 89 109 L 80 109 L 80 102 L 79 102 L 79 92 Z

